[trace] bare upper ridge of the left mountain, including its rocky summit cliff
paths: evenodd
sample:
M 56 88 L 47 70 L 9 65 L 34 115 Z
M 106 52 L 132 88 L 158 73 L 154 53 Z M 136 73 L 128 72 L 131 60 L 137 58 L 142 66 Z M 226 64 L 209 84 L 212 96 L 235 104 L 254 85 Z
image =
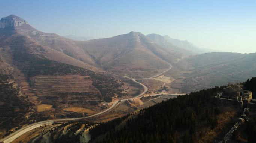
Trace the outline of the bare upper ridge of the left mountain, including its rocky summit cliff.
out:
M 90 64 L 90 62 L 88 62 L 89 64 L 81 62 L 79 57 L 77 57 L 79 55 L 73 54 L 76 56 L 73 56 L 72 58 L 72 56 L 67 54 L 72 54 L 71 52 L 81 53 L 79 48 L 72 48 L 72 42 L 70 42 L 69 39 L 58 36 L 57 34 L 40 32 L 31 27 L 24 19 L 19 18 L 18 16 L 10 15 L 1 19 L 0 35 L 2 44 L 5 43 L 8 45 L 8 41 L 12 41 L 13 37 L 20 36 L 26 39 L 26 44 L 30 45 L 31 53 L 40 53 L 51 60 L 72 64 L 74 66 L 83 67 L 92 71 L 100 71 L 97 67 L 92 66 L 93 64 Z M 37 51 L 36 47 L 41 47 L 43 50 Z

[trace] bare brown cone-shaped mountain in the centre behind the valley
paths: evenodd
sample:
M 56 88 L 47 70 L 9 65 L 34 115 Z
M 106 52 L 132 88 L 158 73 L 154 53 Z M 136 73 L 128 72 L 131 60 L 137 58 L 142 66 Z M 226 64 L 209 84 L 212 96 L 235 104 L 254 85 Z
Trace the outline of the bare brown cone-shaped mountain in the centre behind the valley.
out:
M 105 70 L 131 77 L 159 73 L 168 69 L 167 62 L 177 60 L 177 54 L 166 51 L 139 32 L 83 41 L 80 44 Z

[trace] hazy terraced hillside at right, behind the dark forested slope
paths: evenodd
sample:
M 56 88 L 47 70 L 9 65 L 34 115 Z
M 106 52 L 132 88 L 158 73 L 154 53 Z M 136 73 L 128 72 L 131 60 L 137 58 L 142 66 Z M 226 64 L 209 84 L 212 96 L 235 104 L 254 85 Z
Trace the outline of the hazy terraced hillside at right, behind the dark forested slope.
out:
M 256 53 L 205 53 L 174 64 L 171 88 L 183 93 L 237 83 L 256 76 Z

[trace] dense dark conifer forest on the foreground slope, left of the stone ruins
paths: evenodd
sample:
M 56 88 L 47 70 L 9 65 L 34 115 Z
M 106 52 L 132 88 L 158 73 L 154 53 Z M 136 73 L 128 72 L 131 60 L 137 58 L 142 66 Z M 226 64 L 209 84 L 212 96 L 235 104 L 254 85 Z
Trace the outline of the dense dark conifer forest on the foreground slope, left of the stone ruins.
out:
M 98 133 L 106 131 L 105 138 L 100 141 L 102 143 L 198 142 L 199 138 L 203 138 L 206 134 L 203 128 L 214 130 L 221 122 L 223 112 L 234 112 L 232 108 L 221 109 L 214 104 L 214 95 L 223 88 L 216 87 L 178 96 L 141 110 L 119 129 L 115 128 L 121 121 L 113 120 L 98 125 L 89 133 L 92 139 L 97 139 Z

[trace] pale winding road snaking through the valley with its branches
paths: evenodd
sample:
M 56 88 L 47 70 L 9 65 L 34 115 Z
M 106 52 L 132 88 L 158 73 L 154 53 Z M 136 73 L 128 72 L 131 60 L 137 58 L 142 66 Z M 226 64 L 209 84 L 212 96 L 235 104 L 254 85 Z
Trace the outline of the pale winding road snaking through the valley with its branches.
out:
M 178 62 L 178 61 L 177 61 L 177 62 Z M 173 63 L 177 63 L 177 62 L 173 62 Z M 155 76 L 152 76 L 152 77 L 148 77 L 148 78 L 139 78 L 139 79 L 152 79 L 152 78 L 158 77 L 158 76 L 160 76 L 161 74 L 167 72 L 168 70 L 170 70 L 170 69 L 173 67 L 170 63 L 169 63 L 169 65 L 170 65 L 170 67 L 169 67 L 167 70 L 163 71 L 162 73 L 159 73 L 159 74 L 157 74 L 157 75 L 155 75 Z M 127 78 L 129 78 L 129 77 L 127 77 Z M 23 128 L 21 128 L 21 129 L 15 131 L 14 133 L 10 134 L 9 136 L 7 136 L 7 137 L 1 139 L 0 142 L 10 143 L 10 142 L 12 142 L 13 140 L 17 139 L 17 138 L 18 138 L 19 136 L 21 136 L 22 134 L 25 134 L 25 133 L 27 133 L 28 131 L 33 130 L 34 128 L 40 127 L 40 126 L 42 126 L 42 125 L 53 124 L 54 121 L 74 121 L 74 120 L 82 120 L 82 119 L 84 119 L 84 118 L 91 118 L 91 117 L 94 117 L 94 116 L 103 114 L 103 113 L 109 111 L 110 109 L 112 109 L 113 107 L 115 107 L 119 102 L 140 98 L 142 95 L 144 95 L 144 94 L 147 92 L 147 90 L 148 90 L 147 86 L 143 85 L 143 84 L 140 83 L 140 82 L 137 82 L 136 80 L 138 80 L 138 79 L 132 79 L 132 78 L 129 78 L 129 79 L 131 79 L 132 81 L 134 81 L 134 82 L 136 82 L 136 83 L 142 85 L 143 88 L 144 88 L 144 91 L 143 91 L 142 93 L 140 93 L 139 95 L 135 96 L 135 97 L 128 98 L 128 99 L 121 99 L 121 100 L 119 100 L 119 101 L 116 101 L 116 102 L 115 102 L 111 107 L 109 107 L 108 109 L 106 109 L 106 110 L 104 110 L 104 111 L 102 111 L 102 112 L 98 112 L 98 113 L 96 113 L 96 114 L 94 114 L 94 115 L 90 115 L 90 116 L 87 116 L 87 117 L 80 117 L 80 118 L 66 118 L 66 119 L 46 120 L 46 121 L 40 121 L 40 122 L 31 124 L 31 125 L 28 125 L 27 127 L 23 127 Z M 164 93 L 164 94 L 167 94 L 167 93 Z M 162 94 L 155 94 L 155 95 L 162 95 Z M 168 94 L 168 95 L 184 95 L 184 94 Z M 154 95 L 151 95 L 151 96 L 154 96 Z

